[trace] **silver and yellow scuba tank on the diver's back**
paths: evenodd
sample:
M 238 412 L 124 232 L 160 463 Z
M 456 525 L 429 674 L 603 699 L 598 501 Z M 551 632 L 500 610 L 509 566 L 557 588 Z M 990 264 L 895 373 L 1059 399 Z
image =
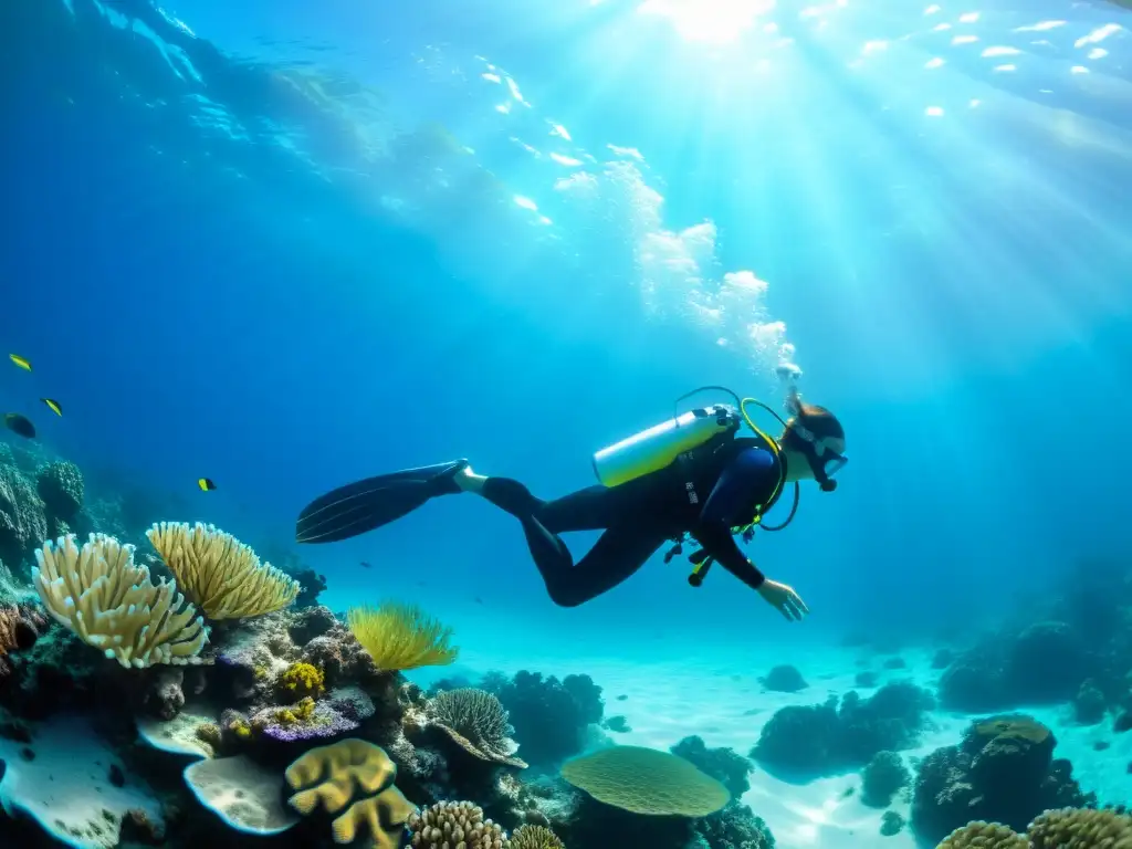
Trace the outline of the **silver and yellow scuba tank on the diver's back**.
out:
M 681 454 L 741 424 L 739 411 L 727 404 L 689 410 L 602 448 L 593 455 L 593 472 L 603 486 L 616 487 L 667 469 Z

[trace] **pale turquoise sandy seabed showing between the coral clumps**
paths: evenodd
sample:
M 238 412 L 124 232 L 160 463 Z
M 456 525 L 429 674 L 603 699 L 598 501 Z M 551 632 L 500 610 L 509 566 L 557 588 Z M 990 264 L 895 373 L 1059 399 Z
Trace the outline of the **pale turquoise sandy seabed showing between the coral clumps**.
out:
M 498 633 L 498 632 L 496 632 Z M 520 669 L 544 675 L 586 674 L 603 688 L 606 715 L 624 715 L 632 730 L 609 732 L 618 744 L 668 749 L 689 735 L 698 735 L 710 746 L 729 746 L 746 755 L 758 739 L 763 726 L 779 707 L 790 704 L 817 704 L 831 694 L 857 689 L 863 697 L 876 688 L 855 687 L 858 671 L 868 668 L 878 672 L 880 684 L 911 680 L 929 691 L 935 689 L 940 672 L 932 669 L 929 649 L 900 652 L 907 668 L 883 669 L 891 655 L 873 655 L 865 666 L 866 650 L 844 648 L 798 648 L 787 653 L 781 645 L 747 645 L 710 648 L 689 644 L 685 657 L 658 657 L 679 651 L 678 641 L 663 641 L 652 651 L 620 644 L 624 657 L 610 654 L 608 635 L 600 644 L 589 644 L 577 634 L 552 636 L 543 629 L 524 643 L 524 657 L 514 659 L 514 641 L 499 642 L 484 635 L 482 641 L 464 632 L 468 646 L 460 672 L 497 669 L 513 674 Z M 648 657 L 638 660 L 635 657 Z M 766 692 L 758 678 L 771 667 L 791 663 L 799 669 L 809 686 L 798 693 Z M 439 671 L 439 670 L 438 670 Z M 447 670 L 447 674 L 457 669 Z M 445 672 L 440 672 L 444 675 Z M 1073 762 L 1074 775 L 1086 790 L 1094 790 L 1101 803 L 1132 800 L 1132 734 L 1115 735 L 1112 721 L 1081 727 L 1073 723 L 1067 706 L 1043 706 L 1019 711 L 1030 713 L 1049 726 L 1056 738 L 1055 756 Z M 960 740 L 963 729 L 977 715 L 934 711 L 931 728 L 920 745 L 901 753 L 906 762 L 921 757 L 941 746 Z M 1096 741 L 1110 747 L 1097 752 Z M 911 766 L 911 764 L 909 764 Z M 743 801 L 762 816 L 782 849 L 794 847 L 816 849 L 857 849 L 884 847 L 914 849 L 917 841 L 906 827 L 894 837 L 880 833 L 885 809 L 909 818 L 909 801 L 898 797 L 890 808 L 871 808 L 860 801 L 860 777 L 856 772 L 822 778 L 806 783 L 791 783 L 774 778 L 754 765 L 751 790 Z M 854 790 L 851 795 L 847 794 Z

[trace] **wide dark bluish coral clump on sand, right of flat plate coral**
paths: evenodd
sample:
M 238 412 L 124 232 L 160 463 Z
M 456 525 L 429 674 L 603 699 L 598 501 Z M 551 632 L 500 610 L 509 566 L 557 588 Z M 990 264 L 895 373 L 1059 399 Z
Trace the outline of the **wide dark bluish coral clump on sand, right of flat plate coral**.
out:
M 766 769 L 827 773 L 863 766 L 878 752 L 909 748 L 925 723 L 931 696 L 907 681 L 881 687 L 871 698 L 855 692 L 820 705 L 791 705 L 763 727 L 751 757 Z

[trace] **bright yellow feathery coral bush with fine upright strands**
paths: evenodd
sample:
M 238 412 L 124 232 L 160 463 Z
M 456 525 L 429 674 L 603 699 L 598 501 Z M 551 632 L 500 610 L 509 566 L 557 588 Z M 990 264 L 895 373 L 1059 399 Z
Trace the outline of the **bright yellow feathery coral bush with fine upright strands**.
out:
M 346 624 L 378 669 L 404 671 L 446 666 L 460 653 L 451 644 L 452 628 L 413 604 L 386 602 L 377 608 L 351 608 Z

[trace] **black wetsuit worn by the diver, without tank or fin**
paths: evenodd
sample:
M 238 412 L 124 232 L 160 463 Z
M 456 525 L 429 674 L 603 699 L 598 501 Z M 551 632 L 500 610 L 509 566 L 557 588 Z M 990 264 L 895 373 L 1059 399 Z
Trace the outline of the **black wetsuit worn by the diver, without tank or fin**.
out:
M 552 501 L 516 480 L 488 478 L 482 495 L 518 518 L 550 598 L 575 607 L 633 575 L 667 540 L 689 533 L 745 584 L 763 574 L 739 550 L 731 529 L 766 507 L 784 475 L 781 461 L 755 438 L 717 437 L 687 460 L 618 487 L 589 487 Z M 558 538 L 604 531 L 576 565 Z

